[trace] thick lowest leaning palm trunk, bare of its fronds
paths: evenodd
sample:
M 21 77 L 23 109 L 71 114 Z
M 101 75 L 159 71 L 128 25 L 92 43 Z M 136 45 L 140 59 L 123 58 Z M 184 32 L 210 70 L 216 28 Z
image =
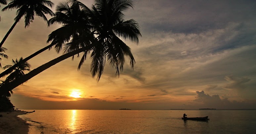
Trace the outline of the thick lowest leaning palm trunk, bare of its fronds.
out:
M 89 46 L 88 46 L 89 47 Z M 74 51 L 71 51 L 69 53 L 66 53 L 66 54 L 63 54 L 61 55 L 60 57 L 56 58 L 56 59 L 53 59 L 41 66 L 39 66 L 38 68 L 30 71 L 29 73 L 23 75 L 22 77 L 10 82 L 10 83 L 7 83 L 7 84 L 4 84 L 0 87 L 0 95 L 1 94 L 4 94 L 8 91 L 11 91 L 12 89 L 14 89 L 15 87 L 19 86 L 20 84 L 28 81 L 29 79 L 31 79 L 32 77 L 38 75 L 39 73 L 43 72 L 44 70 L 50 68 L 51 66 L 63 61 L 64 59 L 67 59 L 73 55 L 76 55 L 80 52 L 83 52 L 85 50 L 87 50 L 88 47 L 83 47 L 83 48 L 80 48 L 80 49 L 77 49 L 77 50 L 74 50 Z

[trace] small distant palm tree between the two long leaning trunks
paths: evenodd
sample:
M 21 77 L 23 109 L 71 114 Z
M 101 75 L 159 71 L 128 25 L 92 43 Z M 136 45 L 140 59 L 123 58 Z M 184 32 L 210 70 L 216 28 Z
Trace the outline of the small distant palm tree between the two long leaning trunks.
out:
M 22 61 L 22 57 L 18 60 L 13 60 L 12 59 L 12 62 L 13 64 L 17 64 L 19 62 Z M 7 68 L 10 68 L 12 67 L 13 65 L 6 65 L 3 67 L 3 69 L 7 69 Z M 23 71 L 30 71 L 29 69 L 30 65 L 27 63 L 27 62 L 23 62 L 20 66 L 16 67 L 12 73 L 10 73 L 10 75 L 8 77 L 6 77 L 5 81 L 1 81 L 2 83 L 0 84 L 0 86 L 3 86 L 4 84 L 8 84 L 16 79 L 19 79 L 20 77 L 22 77 L 24 75 L 24 72 Z M 7 91 L 5 92 L 5 96 L 6 97 L 10 97 L 11 94 L 13 94 L 13 91 L 10 90 L 10 91 Z

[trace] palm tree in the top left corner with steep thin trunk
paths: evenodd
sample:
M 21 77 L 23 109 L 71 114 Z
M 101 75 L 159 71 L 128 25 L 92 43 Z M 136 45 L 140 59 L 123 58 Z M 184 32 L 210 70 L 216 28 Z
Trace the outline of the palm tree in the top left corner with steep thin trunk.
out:
M 43 20 L 48 21 L 45 14 L 53 16 L 54 13 L 47 7 L 52 7 L 53 3 L 49 0 L 10 0 L 11 2 L 2 9 L 6 11 L 9 9 L 18 9 L 15 17 L 15 22 L 9 29 L 5 37 L 0 43 L 0 47 L 4 44 L 5 40 L 12 32 L 15 25 L 20 21 L 21 17 L 24 16 L 25 28 L 29 26 L 30 22 L 34 20 L 34 16 L 41 17 Z

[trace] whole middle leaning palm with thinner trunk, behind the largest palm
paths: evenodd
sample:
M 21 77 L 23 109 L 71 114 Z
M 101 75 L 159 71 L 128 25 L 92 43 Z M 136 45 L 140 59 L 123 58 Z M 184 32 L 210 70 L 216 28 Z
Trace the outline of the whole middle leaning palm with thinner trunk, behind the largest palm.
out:
M 50 41 L 51 44 L 46 46 L 45 48 L 38 50 L 37 52 L 31 54 L 30 56 L 24 58 L 19 64 L 22 62 L 26 62 L 27 60 L 33 58 L 39 53 L 51 49 L 55 46 L 57 52 L 62 50 L 62 46 L 67 43 L 71 38 L 73 38 L 76 34 L 82 31 L 90 32 L 90 25 L 88 25 L 88 14 L 85 9 L 80 9 L 79 3 L 77 2 L 60 2 L 56 7 L 55 16 L 48 21 L 48 26 L 54 23 L 60 23 L 63 26 L 59 29 L 53 31 L 49 36 L 47 43 Z M 90 43 L 89 40 L 87 40 Z M 8 68 L 4 72 L 0 74 L 0 78 L 12 72 L 12 70 L 19 66 L 19 64 L 13 65 L 11 68 Z

